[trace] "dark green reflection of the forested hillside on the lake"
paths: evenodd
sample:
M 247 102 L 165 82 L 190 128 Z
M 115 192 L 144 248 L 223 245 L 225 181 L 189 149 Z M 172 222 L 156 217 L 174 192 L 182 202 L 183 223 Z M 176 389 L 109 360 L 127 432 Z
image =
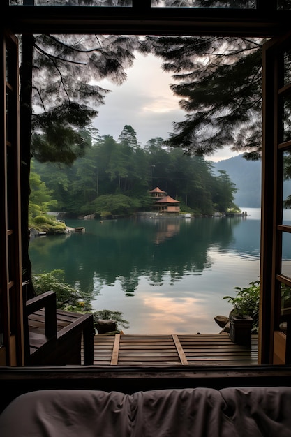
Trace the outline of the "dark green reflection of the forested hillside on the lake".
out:
M 128 295 L 135 292 L 141 274 L 154 285 L 180 281 L 186 272 L 201 274 L 211 267 L 209 248 L 226 249 L 241 219 L 194 218 L 86 223 L 84 234 L 46 237 L 32 242 L 33 272 L 64 269 L 65 280 L 81 290 L 98 291 L 118 279 Z M 83 223 L 80 223 L 83 225 Z M 59 239 L 59 240 L 58 240 Z M 45 267 L 40 267 L 45 266 Z

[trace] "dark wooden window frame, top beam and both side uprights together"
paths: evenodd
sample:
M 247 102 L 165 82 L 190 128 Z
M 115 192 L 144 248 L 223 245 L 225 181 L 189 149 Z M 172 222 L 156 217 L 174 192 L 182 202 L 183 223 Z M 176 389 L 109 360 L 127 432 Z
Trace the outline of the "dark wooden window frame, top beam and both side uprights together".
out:
M 54 6 L 9 6 L 9 0 L 2 0 L 1 16 L 5 16 L 6 31 L 15 34 L 158 34 L 158 35 L 193 35 L 193 36 L 260 36 L 273 37 L 285 34 L 290 27 L 291 11 L 277 10 L 275 0 L 258 0 L 256 10 L 213 10 L 213 9 L 183 9 L 183 8 L 151 8 L 149 0 L 133 0 L 132 8 L 88 8 L 88 7 L 54 7 Z M 10 37 L 9 37 L 10 38 Z M 11 37 L 13 38 L 13 37 Z M 7 41 L 7 36 L 4 36 Z M 16 46 L 16 40 L 13 39 Z M 262 298 L 260 302 L 260 362 L 269 364 L 273 357 L 273 334 L 276 326 L 276 311 L 278 309 L 278 282 L 282 278 L 278 265 L 281 248 L 278 244 L 278 232 L 282 232 L 278 222 L 278 199 L 281 183 L 278 176 L 278 151 L 275 149 L 278 133 L 278 119 L 275 119 L 278 108 L 278 64 L 276 68 L 276 43 L 266 46 L 263 53 L 264 64 L 264 101 L 263 101 L 263 152 L 262 152 L 262 234 L 261 234 L 261 270 Z M 5 54 L 5 42 L 2 57 Z M 16 59 L 16 56 L 15 56 Z M 3 58 L 2 58 L 3 61 Z M 15 61 L 16 62 L 16 61 Z M 3 61 L 5 64 L 5 62 Z M 17 65 L 15 64 L 15 71 Z M 3 100 L 3 151 L 6 154 L 6 81 L 2 71 Z M 17 80 L 17 74 L 15 75 Z M 15 82 L 16 83 L 16 82 Z M 18 85 L 16 85 L 18 87 Z M 15 94 L 16 96 L 16 94 Z M 19 161 L 19 109 L 15 101 L 14 123 L 17 135 L 17 175 L 20 175 Z M 270 110 L 271 108 L 271 110 Z M 283 146 L 280 146 L 283 147 Z M 3 163 L 6 162 L 6 155 Z M 1 185 L 6 186 L 7 168 L 0 168 Z M 16 173 L 15 173 L 16 174 Z M 15 347 L 15 362 L 23 362 L 23 332 L 22 332 L 22 284 L 21 284 L 21 250 L 20 250 L 20 178 L 15 177 L 13 192 L 15 193 L 15 210 L 17 218 L 13 225 L 15 260 L 15 314 L 17 315 L 17 345 Z M 8 214 L 6 193 L 1 191 L 0 206 Z M 6 309 L 6 363 L 12 362 L 8 334 L 10 332 L 10 302 L 8 284 L 8 221 L 0 230 L 1 256 L 5 262 L 1 265 L 1 304 Z M 277 292 L 276 292 L 277 290 Z M 6 292 L 7 291 L 7 292 Z M 10 350 L 11 349 L 11 350 Z M 1 357 L 1 350 L 0 350 Z

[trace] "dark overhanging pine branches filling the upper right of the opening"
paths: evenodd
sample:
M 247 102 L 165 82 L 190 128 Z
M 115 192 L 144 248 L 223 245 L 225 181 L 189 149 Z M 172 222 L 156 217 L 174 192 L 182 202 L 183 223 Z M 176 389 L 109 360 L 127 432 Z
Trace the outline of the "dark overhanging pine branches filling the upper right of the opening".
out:
M 207 155 L 229 146 L 258 158 L 261 149 L 262 40 L 147 37 L 142 49 L 173 73 L 174 94 L 186 111 L 167 144 Z

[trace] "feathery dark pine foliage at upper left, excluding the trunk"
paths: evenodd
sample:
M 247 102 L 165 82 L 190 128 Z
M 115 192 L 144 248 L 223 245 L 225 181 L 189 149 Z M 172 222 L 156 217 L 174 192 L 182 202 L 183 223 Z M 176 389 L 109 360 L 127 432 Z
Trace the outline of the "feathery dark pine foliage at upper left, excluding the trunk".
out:
M 90 141 L 80 131 L 109 92 L 96 82 L 124 82 L 136 43 L 135 36 L 34 36 L 31 151 L 38 161 L 71 165 L 84 155 Z

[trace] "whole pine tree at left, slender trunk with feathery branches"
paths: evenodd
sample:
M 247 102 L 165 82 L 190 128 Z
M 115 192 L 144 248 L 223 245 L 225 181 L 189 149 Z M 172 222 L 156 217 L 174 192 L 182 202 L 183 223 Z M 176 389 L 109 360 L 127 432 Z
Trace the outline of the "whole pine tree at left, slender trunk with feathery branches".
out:
M 96 107 L 108 92 L 97 81 L 121 83 L 134 59 L 137 38 L 126 36 L 23 35 L 20 67 L 22 184 L 22 270 L 31 281 L 29 260 L 29 173 L 31 155 L 71 164 L 84 154 Z M 32 136 L 31 136 L 31 131 Z

